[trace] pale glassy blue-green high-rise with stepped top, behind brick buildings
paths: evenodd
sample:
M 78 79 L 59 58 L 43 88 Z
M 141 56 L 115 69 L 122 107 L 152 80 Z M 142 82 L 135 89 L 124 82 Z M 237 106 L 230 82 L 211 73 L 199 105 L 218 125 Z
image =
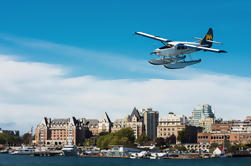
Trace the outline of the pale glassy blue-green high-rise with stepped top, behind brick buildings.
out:
M 199 126 L 199 120 L 207 118 L 215 118 L 211 106 L 208 104 L 198 105 L 192 112 L 192 125 Z

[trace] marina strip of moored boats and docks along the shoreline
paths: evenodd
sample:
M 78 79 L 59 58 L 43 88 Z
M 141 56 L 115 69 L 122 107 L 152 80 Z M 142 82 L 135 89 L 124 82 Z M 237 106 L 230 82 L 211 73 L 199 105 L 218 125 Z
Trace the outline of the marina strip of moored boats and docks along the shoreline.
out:
M 108 150 L 99 150 L 97 147 L 83 148 L 75 145 L 65 145 L 61 150 L 41 149 L 35 147 L 8 148 L 0 151 L 1 155 L 25 155 L 25 156 L 72 156 L 83 158 L 128 158 L 128 159 L 209 159 L 209 158 L 239 158 L 251 157 L 251 151 L 238 151 L 224 153 L 216 148 L 212 153 L 185 152 L 185 151 L 160 151 L 158 149 L 142 150 L 138 148 L 125 148 L 113 146 Z

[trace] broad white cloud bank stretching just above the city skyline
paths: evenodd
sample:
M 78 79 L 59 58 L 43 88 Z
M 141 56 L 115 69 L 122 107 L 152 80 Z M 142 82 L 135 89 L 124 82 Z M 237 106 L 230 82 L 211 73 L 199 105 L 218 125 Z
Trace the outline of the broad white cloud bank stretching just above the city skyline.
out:
M 105 111 L 114 120 L 134 106 L 152 107 L 160 116 L 189 116 L 197 104 L 211 104 L 224 119 L 251 115 L 251 78 L 193 70 L 187 71 L 192 77 L 180 74 L 178 80 L 105 80 L 66 77 L 57 65 L 0 56 L 0 125 L 27 131 L 44 116 L 100 119 Z

